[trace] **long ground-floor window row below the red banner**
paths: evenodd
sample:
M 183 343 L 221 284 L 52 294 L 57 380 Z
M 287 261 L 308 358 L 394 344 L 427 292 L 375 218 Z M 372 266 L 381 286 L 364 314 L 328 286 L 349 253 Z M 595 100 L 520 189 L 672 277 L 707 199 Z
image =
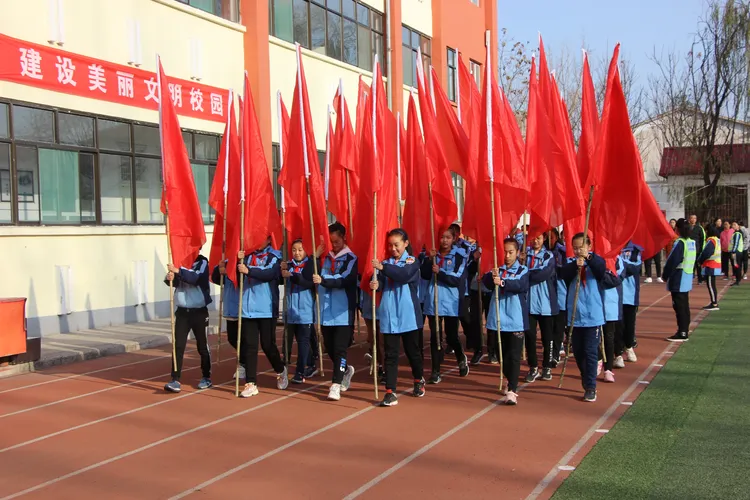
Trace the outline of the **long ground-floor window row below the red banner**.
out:
M 220 138 L 182 135 L 210 224 Z M 161 224 L 161 169 L 154 125 L 0 102 L 0 224 Z

